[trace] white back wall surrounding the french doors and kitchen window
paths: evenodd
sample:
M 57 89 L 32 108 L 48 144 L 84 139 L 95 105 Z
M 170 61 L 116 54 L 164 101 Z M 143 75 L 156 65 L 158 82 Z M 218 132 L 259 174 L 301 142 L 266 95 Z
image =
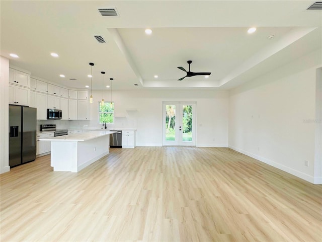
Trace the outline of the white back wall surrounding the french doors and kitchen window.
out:
M 105 95 L 105 100 L 109 101 L 109 92 L 106 91 Z M 87 124 L 90 127 L 101 127 L 98 125 L 95 103 L 102 99 L 102 92 L 93 91 L 93 97 L 91 122 Z M 115 125 L 110 125 L 109 128 L 137 128 L 137 146 L 162 146 L 163 101 L 197 103 L 196 146 L 228 146 L 228 91 L 116 90 L 113 91 L 112 97 L 116 116 L 125 117 L 116 117 Z M 137 111 L 126 111 L 129 108 L 135 108 Z

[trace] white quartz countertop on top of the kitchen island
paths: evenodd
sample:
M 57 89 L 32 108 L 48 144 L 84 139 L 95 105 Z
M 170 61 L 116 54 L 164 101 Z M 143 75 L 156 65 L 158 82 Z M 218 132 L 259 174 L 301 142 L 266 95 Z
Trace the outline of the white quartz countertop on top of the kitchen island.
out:
M 98 137 L 102 137 L 105 135 L 114 134 L 116 132 L 113 131 L 101 131 L 101 132 L 93 132 L 93 133 L 83 133 L 83 134 L 70 134 L 70 135 L 62 135 L 50 138 L 42 138 L 40 141 L 87 141 L 96 139 Z

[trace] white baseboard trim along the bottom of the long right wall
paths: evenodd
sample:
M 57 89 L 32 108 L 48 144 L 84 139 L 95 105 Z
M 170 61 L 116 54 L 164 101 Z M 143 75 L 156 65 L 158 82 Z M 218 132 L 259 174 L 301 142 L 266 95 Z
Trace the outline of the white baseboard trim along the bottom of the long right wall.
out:
M 269 159 L 267 159 L 267 158 L 261 157 L 261 156 L 259 156 L 259 155 L 253 154 L 253 153 L 251 153 L 251 152 L 248 152 L 248 151 L 245 151 L 245 150 L 239 149 L 239 148 L 234 147 L 234 146 L 231 146 L 231 145 L 228 145 L 228 148 L 230 148 L 230 149 L 232 149 L 232 150 L 235 150 L 235 151 L 237 151 L 237 152 L 239 152 L 239 153 L 242 153 L 242 154 L 244 154 L 244 155 L 250 156 L 250 157 L 252 157 L 252 158 L 254 158 L 254 159 L 257 159 L 257 160 L 259 160 L 259 161 L 261 161 L 261 162 L 264 162 L 264 163 L 266 163 L 266 164 L 268 164 L 268 165 L 271 165 L 271 166 L 273 166 L 273 167 L 275 167 L 275 168 L 278 168 L 278 169 L 280 169 L 280 170 L 283 170 L 283 171 L 285 171 L 285 172 L 287 172 L 287 173 L 290 173 L 290 174 L 292 174 L 292 175 L 295 175 L 296 177 L 301 178 L 301 179 L 303 179 L 303 180 L 306 180 L 306 181 L 308 181 L 309 183 L 312 183 L 312 184 L 322 184 L 322 177 L 314 177 L 314 176 L 311 176 L 311 175 L 305 174 L 305 173 L 303 173 L 303 172 L 301 172 L 301 171 L 295 170 L 295 169 L 290 168 L 290 167 L 288 167 L 288 166 L 285 166 L 285 165 L 279 164 L 279 163 L 277 163 L 277 162 L 275 162 L 275 161 L 269 160 Z

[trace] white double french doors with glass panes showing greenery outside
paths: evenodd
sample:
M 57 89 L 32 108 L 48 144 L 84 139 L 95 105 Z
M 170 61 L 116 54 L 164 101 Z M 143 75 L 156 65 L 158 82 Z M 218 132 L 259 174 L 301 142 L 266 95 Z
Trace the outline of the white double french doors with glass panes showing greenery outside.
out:
M 163 103 L 163 145 L 196 145 L 196 103 Z

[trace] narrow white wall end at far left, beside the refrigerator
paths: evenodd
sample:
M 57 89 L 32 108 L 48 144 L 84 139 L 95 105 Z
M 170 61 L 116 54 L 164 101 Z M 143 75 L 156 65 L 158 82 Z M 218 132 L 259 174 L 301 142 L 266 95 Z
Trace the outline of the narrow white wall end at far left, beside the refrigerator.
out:
M 9 59 L 0 56 L 0 173 L 9 166 Z

